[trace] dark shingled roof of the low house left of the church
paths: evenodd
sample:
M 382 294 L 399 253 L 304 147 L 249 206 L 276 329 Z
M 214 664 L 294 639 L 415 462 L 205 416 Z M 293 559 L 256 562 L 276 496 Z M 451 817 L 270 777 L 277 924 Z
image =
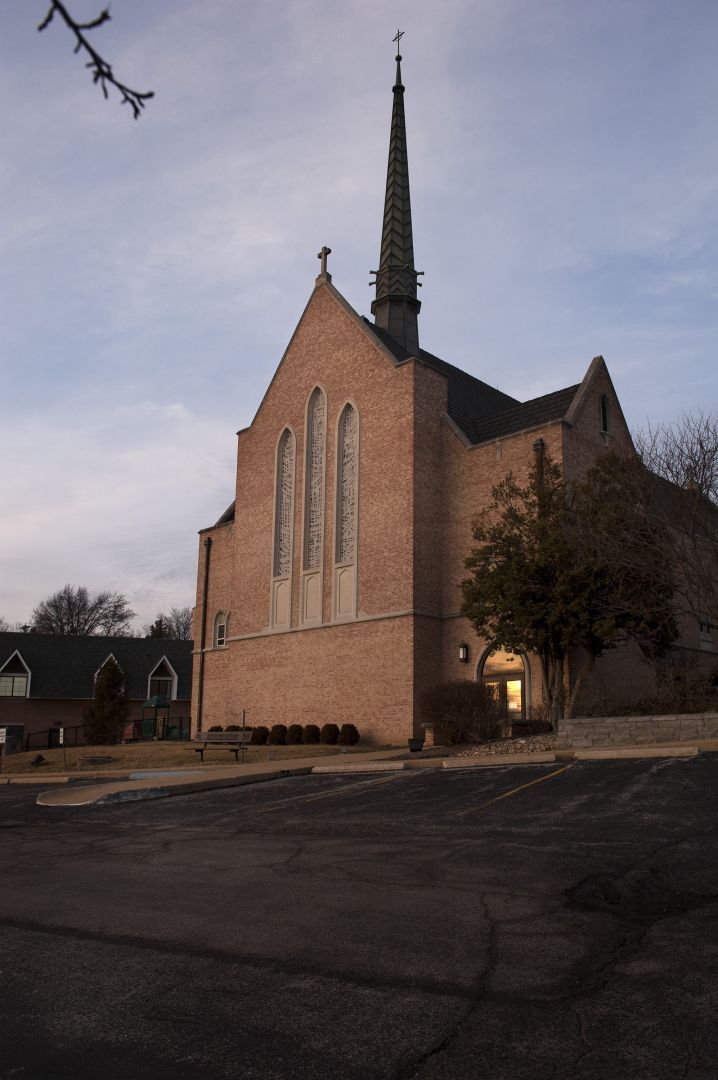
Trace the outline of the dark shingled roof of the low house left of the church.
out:
M 190 697 L 192 642 L 0 633 L 0 670 L 15 650 L 30 669 L 30 698 L 92 698 L 95 672 L 110 653 L 125 673 L 134 701 L 147 698 L 147 679 L 163 657 L 177 672 L 177 697 Z

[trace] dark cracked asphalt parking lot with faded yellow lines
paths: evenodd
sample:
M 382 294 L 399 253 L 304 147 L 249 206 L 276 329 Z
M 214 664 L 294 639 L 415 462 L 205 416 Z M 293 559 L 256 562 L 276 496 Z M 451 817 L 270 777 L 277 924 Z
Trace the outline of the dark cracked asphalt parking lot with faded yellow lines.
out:
M 37 792 L 2 1080 L 718 1076 L 718 757 Z

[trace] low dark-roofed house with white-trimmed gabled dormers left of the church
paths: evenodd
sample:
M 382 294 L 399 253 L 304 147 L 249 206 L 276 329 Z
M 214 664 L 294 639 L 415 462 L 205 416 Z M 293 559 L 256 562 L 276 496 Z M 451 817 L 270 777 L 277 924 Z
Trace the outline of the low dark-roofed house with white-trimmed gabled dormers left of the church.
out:
M 9 729 L 9 747 L 55 744 L 60 725 L 82 741 L 73 729 L 109 657 L 126 676 L 133 720 L 153 697 L 168 700 L 172 718 L 189 716 L 191 642 L 0 633 L 0 727 Z

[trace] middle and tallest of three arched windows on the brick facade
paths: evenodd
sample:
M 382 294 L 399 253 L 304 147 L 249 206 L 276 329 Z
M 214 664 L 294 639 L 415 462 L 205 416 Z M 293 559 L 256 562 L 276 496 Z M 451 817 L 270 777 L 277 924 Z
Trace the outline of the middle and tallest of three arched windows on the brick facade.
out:
M 324 553 L 324 472 L 326 461 L 326 394 L 315 387 L 307 405 L 304 465 L 304 536 L 301 621 L 322 621 Z

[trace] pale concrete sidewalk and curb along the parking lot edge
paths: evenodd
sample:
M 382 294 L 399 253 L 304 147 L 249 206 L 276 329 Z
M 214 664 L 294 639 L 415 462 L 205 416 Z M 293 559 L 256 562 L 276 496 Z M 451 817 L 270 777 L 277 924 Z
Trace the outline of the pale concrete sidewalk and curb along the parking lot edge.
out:
M 13 778 L 13 783 L 54 782 L 57 786 L 41 792 L 37 802 L 40 806 L 91 806 L 97 804 L 126 802 L 137 799 L 167 798 L 171 795 L 189 795 L 213 788 L 236 787 L 256 784 L 286 777 L 301 777 L 310 773 L 362 773 L 393 772 L 401 769 L 486 769 L 515 765 L 550 765 L 556 761 L 590 761 L 607 759 L 695 757 L 699 753 L 718 751 L 716 740 L 695 745 L 666 746 L 611 746 L 592 750 L 561 750 L 557 753 L 476 755 L 472 757 L 441 757 L 409 754 L 399 747 L 383 751 L 368 751 L 352 754 L 351 760 L 344 754 L 330 757 L 304 757 L 283 761 L 261 761 L 253 765 L 233 765 L 195 768 L 187 770 L 152 770 L 150 775 L 135 780 L 117 779 L 98 783 L 69 783 L 84 780 L 82 773 L 45 778 Z M 149 770 L 146 770 L 149 772 Z

